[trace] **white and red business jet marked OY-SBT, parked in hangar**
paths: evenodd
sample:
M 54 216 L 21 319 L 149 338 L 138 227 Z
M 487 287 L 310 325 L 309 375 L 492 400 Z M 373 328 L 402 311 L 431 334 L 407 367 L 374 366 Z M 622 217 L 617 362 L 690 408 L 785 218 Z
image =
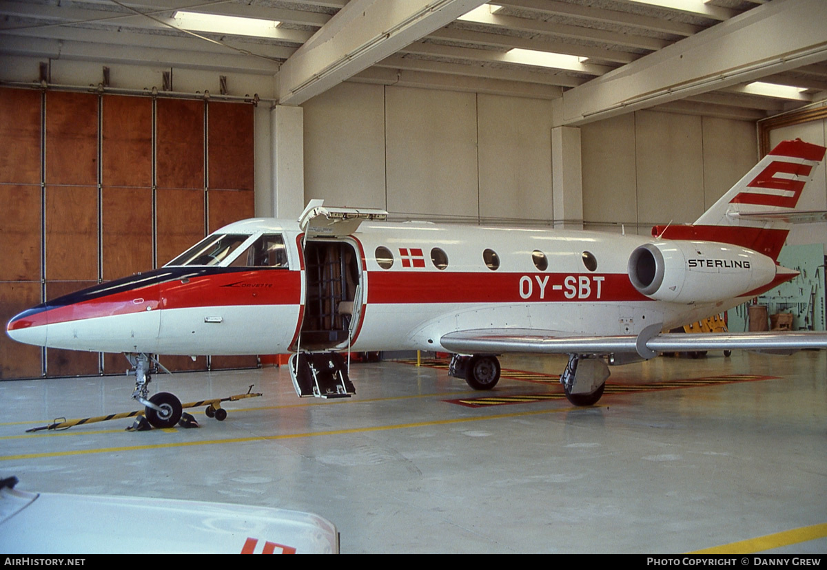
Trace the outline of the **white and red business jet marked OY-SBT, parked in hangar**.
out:
M 385 223 L 376 210 L 313 201 L 299 221 L 223 227 L 164 267 L 15 316 L 8 335 L 57 349 L 122 352 L 155 426 L 178 398 L 148 397 L 152 354 L 292 352 L 300 396 L 354 389 L 337 352 L 424 349 L 465 356 L 452 375 L 490 389 L 497 354 L 568 354 L 561 382 L 600 399 L 609 363 L 659 352 L 827 348 L 827 333 L 662 334 L 755 297 L 796 272 L 776 262 L 825 147 L 787 140 L 691 226 L 653 238 L 590 231 Z

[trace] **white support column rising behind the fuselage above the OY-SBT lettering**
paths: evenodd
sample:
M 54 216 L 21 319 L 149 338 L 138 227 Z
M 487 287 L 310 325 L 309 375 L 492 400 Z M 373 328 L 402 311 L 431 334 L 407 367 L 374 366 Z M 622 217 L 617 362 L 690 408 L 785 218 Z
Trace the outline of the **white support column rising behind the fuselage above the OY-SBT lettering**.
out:
M 552 199 L 554 227 L 583 229 L 583 176 L 580 129 L 552 128 Z

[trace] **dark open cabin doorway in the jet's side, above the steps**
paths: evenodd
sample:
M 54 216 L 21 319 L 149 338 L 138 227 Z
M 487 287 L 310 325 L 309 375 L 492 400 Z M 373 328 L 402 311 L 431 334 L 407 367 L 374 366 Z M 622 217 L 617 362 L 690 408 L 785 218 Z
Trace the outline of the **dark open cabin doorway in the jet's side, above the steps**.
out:
M 346 347 L 361 309 L 356 249 L 342 240 L 308 240 L 304 246 L 304 321 L 299 349 Z

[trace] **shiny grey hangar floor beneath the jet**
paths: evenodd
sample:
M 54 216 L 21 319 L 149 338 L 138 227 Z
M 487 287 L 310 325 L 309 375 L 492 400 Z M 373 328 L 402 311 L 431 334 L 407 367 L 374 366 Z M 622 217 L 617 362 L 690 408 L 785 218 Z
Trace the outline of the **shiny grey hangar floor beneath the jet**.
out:
M 550 376 L 564 363 L 503 359 L 493 392 L 355 363 L 356 396 L 327 401 L 296 397 L 286 367 L 160 374 L 154 390 L 182 401 L 264 395 L 225 403 L 222 422 L 191 410 L 198 430 L 145 432 L 25 433 L 136 409 L 129 378 L 0 382 L 0 476 L 310 511 L 342 553 L 827 552 L 827 353 L 617 367 L 584 409 Z

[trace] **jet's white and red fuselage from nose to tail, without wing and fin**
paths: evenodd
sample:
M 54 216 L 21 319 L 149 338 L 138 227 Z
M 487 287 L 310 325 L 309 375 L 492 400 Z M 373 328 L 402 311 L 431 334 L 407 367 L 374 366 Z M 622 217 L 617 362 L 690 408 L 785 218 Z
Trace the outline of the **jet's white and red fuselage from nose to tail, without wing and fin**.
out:
M 24 311 L 7 332 L 53 348 L 148 354 L 442 350 L 442 335 L 457 330 L 637 335 L 756 294 L 747 287 L 701 302 L 643 294 L 629 278 L 629 259 L 653 243 L 427 222 L 363 222 L 351 235 L 308 237 L 295 221 L 258 218 L 225 226 L 162 268 Z M 732 259 L 746 258 L 743 251 Z M 774 268 L 762 254 L 748 255 Z M 686 260 L 686 270 L 698 263 Z M 714 279 L 754 268 L 707 256 L 695 270 Z

